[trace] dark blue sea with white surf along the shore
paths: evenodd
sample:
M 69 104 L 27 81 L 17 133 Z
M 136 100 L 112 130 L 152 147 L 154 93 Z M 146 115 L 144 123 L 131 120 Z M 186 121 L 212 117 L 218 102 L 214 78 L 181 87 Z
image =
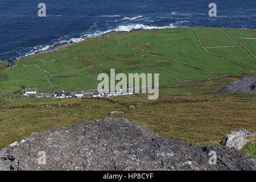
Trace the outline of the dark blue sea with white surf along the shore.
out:
M 209 3 L 217 17 L 209 17 Z M 38 16 L 39 3 L 46 17 Z M 0 60 L 106 32 L 164 27 L 256 28 L 255 0 L 1 0 Z

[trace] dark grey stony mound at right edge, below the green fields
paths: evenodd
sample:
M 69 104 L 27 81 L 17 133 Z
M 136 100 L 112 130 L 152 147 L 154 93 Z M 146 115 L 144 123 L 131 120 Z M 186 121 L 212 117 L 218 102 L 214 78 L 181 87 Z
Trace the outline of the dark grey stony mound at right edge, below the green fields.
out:
M 220 89 L 223 93 L 256 93 L 256 77 L 244 77 L 236 80 Z

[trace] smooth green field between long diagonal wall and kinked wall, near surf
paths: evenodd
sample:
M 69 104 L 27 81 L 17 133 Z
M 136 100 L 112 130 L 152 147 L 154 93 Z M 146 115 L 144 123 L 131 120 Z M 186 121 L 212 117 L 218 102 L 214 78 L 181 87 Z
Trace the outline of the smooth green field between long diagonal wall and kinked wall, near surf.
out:
M 243 68 L 228 63 L 201 49 L 193 32 L 178 34 L 143 34 L 119 37 L 117 40 L 133 46 L 158 52 L 172 59 L 202 68 L 214 73 L 242 72 Z M 149 44 L 148 48 L 146 44 Z

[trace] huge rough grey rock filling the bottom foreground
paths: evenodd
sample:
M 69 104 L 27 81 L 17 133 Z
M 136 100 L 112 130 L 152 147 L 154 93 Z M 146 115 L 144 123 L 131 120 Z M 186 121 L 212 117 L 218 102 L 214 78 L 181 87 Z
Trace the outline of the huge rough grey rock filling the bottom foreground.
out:
M 235 148 L 189 145 L 127 119 L 105 118 L 33 133 L 0 152 L 0 169 L 256 170 L 256 162 Z

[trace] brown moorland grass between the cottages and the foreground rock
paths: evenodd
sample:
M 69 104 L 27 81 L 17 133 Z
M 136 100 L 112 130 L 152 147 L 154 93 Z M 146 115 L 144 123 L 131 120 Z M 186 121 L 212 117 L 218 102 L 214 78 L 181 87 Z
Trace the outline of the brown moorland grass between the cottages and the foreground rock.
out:
M 34 132 L 108 117 L 113 110 L 122 112 L 113 117 L 128 118 L 162 137 L 187 143 L 217 143 L 234 129 L 256 131 L 256 105 L 251 96 L 227 96 L 165 96 L 158 101 L 148 101 L 146 96 L 122 96 L 7 105 L 0 108 L 0 148 Z M 125 104 L 129 102 L 135 109 L 128 109 Z

